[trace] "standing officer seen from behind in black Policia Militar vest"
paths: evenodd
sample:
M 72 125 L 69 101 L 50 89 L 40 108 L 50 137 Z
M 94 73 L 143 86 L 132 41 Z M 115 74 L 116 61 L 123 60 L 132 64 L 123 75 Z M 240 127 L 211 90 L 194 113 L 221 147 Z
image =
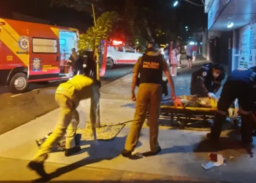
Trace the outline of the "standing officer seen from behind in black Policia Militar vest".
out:
M 161 151 L 158 144 L 158 118 L 160 102 L 162 98 L 162 72 L 164 71 L 172 91 L 172 99 L 175 99 L 175 90 L 168 66 L 162 55 L 156 53 L 153 45 L 148 45 L 147 53 L 140 57 L 133 70 L 132 100 L 136 101 L 134 119 L 129 135 L 127 136 L 125 149 L 121 154 L 130 158 L 140 136 L 142 125 L 145 121 L 147 107 L 150 108 L 150 148 L 152 155 Z M 135 87 L 138 73 L 140 72 L 140 85 L 135 96 Z

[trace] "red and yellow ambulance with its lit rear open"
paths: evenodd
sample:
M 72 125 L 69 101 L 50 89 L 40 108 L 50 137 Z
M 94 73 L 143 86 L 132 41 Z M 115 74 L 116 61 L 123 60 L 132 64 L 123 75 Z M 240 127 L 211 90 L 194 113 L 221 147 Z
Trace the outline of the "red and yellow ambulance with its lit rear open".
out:
M 29 83 L 68 80 L 77 40 L 76 29 L 0 18 L 0 85 L 23 93 Z

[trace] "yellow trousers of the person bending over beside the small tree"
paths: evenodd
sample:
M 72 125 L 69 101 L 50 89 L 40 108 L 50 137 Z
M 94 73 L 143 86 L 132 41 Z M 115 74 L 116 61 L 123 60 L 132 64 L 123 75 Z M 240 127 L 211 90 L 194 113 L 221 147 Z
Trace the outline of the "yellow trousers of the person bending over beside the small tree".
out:
M 76 110 L 78 103 L 74 103 L 63 94 L 55 94 L 55 100 L 59 105 L 60 113 L 57 125 L 47 140 L 39 147 L 33 161 L 44 162 L 50 149 L 66 134 L 66 149 L 75 147 L 75 134 L 79 123 L 79 114 Z

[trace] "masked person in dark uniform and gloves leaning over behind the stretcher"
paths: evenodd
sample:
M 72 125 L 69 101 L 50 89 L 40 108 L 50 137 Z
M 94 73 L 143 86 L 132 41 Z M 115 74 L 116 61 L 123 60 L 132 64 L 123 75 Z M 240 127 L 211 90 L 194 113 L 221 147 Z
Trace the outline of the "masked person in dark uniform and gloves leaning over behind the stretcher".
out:
M 193 72 L 190 94 L 214 98 L 224 78 L 225 71 L 221 64 L 205 64 L 199 70 Z

